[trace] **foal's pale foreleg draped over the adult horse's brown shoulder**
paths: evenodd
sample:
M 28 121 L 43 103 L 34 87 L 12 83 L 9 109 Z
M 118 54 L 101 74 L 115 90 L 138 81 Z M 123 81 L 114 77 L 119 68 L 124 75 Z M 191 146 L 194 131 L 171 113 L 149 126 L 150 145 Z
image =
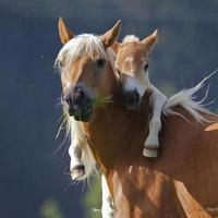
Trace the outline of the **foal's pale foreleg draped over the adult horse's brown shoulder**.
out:
M 161 111 L 167 101 L 167 97 L 158 90 L 155 86 L 152 86 L 152 104 L 153 104 L 153 117 L 149 122 L 149 133 L 144 143 L 143 155 L 145 157 L 157 157 L 159 141 L 158 134 L 161 130 Z

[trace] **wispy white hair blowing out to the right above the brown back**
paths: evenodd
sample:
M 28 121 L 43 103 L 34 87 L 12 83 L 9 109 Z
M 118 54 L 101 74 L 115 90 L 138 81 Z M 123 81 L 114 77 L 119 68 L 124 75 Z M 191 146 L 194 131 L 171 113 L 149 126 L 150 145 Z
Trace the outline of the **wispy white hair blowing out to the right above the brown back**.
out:
M 167 104 L 164 108 L 164 113 L 166 116 L 170 116 L 170 114 L 177 114 L 177 116 L 181 116 L 179 112 L 173 110 L 173 107 L 175 106 L 181 106 L 183 107 L 197 122 L 209 122 L 207 119 L 204 118 L 203 113 L 210 113 L 208 110 L 206 110 L 204 108 L 204 106 L 202 105 L 202 102 L 206 99 L 207 94 L 208 94 L 208 89 L 206 92 L 205 97 L 199 100 L 199 101 L 195 101 L 194 100 L 194 94 L 199 90 L 205 82 L 213 76 L 215 73 L 218 72 L 218 69 L 216 69 L 213 73 L 210 73 L 207 77 L 205 77 L 203 81 L 201 81 L 196 86 L 189 88 L 189 89 L 183 89 L 177 94 L 174 94 L 173 96 L 171 96 L 168 100 Z M 184 117 L 183 117 L 184 118 Z M 184 118 L 185 120 L 187 120 L 186 118 Z

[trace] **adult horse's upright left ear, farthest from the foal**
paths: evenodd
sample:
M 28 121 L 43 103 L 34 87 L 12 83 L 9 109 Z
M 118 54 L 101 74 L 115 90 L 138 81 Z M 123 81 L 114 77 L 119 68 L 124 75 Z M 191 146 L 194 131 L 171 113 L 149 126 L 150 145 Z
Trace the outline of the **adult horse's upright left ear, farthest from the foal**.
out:
M 61 43 L 63 45 L 66 44 L 69 40 L 71 40 L 71 38 L 74 37 L 74 34 L 65 25 L 65 22 L 64 22 L 63 17 L 59 17 L 58 29 L 59 29 L 59 36 L 60 36 Z

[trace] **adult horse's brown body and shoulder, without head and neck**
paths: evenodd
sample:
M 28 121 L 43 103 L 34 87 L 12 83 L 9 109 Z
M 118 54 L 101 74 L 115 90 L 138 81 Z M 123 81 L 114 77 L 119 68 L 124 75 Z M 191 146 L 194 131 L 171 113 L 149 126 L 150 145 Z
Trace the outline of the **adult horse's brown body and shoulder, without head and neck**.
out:
M 206 209 L 218 207 L 218 117 L 205 117 L 214 122 L 168 118 L 158 158 L 143 157 L 141 147 L 118 161 L 113 193 L 126 218 L 210 217 Z

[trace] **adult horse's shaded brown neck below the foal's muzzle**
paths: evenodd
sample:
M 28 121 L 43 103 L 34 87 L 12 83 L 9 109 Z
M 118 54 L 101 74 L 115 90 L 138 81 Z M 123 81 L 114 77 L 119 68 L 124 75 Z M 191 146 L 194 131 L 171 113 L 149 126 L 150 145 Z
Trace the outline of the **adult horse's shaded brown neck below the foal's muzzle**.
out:
M 93 154 L 104 173 L 113 168 L 117 159 L 125 162 L 128 156 L 133 159 L 143 155 L 150 114 L 150 93 L 145 95 L 138 111 L 129 111 L 120 99 L 117 81 L 111 78 L 110 83 L 114 101 L 105 107 L 97 106 L 92 121 L 86 124 Z

